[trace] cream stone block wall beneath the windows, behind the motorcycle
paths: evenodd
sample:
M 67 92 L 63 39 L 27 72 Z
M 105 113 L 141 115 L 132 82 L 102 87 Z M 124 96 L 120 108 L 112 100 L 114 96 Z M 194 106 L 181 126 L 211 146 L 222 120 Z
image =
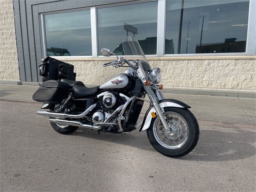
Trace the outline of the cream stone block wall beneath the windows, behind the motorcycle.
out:
M 92 58 L 74 61 L 77 80 L 102 84 L 126 68 L 103 67 L 114 58 Z M 161 84 L 169 88 L 256 91 L 256 57 L 173 57 L 148 58 L 152 68 L 162 70 Z

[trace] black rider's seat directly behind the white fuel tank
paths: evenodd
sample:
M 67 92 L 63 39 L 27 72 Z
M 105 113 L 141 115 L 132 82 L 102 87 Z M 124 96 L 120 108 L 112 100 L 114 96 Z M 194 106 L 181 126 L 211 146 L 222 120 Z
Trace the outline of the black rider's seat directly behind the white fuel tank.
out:
M 100 86 L 88 88 L 79 84 L 74 85 L 72 88 L 72 94 L 73 96 L 79 97 L 79 98 L 95 96 L 99 87 Z

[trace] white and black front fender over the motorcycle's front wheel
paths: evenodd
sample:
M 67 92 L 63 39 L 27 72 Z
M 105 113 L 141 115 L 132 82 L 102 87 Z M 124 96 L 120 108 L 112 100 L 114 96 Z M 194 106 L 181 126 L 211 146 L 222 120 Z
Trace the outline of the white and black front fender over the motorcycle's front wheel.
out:
M 181 101 L 178 101 L 178 100 L 174 100 L 174 99 L 161 100 L 159 102 L 159 107 L 160 107 L 160 109 L 165 108 L 165 107 L 190 108 L 190 106 L 188 106 L 187 104 L 185 104 Z M 152 115 L 151 115 L 152 112 L 156 113 L 156 109 L 154 108 L 154 106 L 150 106 L 150 108 L 148 108 L 148 110 L 144 116 L 144 120 L 143 120 L 142 126 L 140 128 L 140 131 L 144 131 L 149 128 L 149 126 L 151 124 L 151 120 L 152 120 Z

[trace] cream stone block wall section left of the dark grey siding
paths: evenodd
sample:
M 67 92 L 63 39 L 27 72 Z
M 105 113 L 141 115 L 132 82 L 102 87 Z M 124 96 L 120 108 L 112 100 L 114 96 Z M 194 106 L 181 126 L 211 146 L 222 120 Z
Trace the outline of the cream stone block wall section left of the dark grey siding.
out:
M 0 0 L 0 79 L 20 80 L 12 0 Z

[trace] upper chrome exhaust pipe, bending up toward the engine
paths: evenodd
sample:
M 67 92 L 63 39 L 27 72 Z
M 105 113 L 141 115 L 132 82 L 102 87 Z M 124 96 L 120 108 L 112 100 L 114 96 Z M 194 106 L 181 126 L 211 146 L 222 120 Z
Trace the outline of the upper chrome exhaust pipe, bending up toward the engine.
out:
M 83 118 L 89 112 L 91 112 L 96 107 L 96 105 L 97 104 L 91 105 L 88 109 L 86 109 L 84 112 L 82 112 L 81 114 L 78 114 L 78 115 L 72 115 L 72 114 L 67 114 L 67 113 L 59 113 L 59 112 L 53 112 L 53 111 L 38 111 L 37 114 L 42 115 L 42 116 L 47 116 L 47 117 L 55 117 L 55 118 L 75 118 L 75 119 L 79 119 L 79 118 Z

